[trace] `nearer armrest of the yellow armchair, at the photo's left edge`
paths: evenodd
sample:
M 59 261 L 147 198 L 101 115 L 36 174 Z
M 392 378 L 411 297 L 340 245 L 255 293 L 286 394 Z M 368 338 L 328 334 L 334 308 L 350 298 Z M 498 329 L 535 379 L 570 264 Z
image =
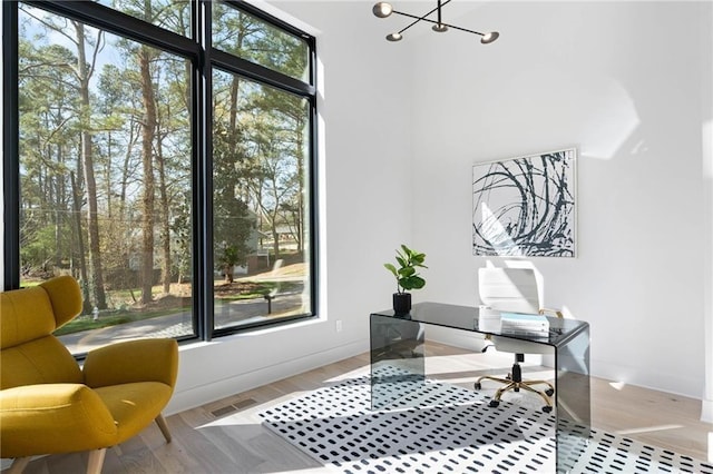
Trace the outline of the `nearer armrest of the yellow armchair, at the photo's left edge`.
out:
M 82 384 L 38 384 L 0 391 L 2 457 L 110 446 L 117 426 L 99 395 Z

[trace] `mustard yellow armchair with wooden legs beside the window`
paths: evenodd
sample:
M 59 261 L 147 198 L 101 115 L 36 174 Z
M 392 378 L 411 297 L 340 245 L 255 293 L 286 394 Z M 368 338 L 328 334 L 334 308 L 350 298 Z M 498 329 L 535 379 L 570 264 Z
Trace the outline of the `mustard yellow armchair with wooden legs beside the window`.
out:
M 174 339 L 116 343 L 92 350 L 80 368 L 52 332 L 81 312 L 77 282 L 62 276 L 0 293 L 0 456 L 20 473 L 31 456 L 89 451 L 99 473 L 106 448 L 162 415 L 178 372 Z

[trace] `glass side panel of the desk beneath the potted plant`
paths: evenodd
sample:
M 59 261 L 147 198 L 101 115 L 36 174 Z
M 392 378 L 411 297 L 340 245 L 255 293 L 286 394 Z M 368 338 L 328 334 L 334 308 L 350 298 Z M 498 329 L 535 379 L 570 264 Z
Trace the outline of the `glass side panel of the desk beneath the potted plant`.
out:
M 380 409 L 423 385 L 423 325 L 372 314 L 370 333 L 371 409 Z

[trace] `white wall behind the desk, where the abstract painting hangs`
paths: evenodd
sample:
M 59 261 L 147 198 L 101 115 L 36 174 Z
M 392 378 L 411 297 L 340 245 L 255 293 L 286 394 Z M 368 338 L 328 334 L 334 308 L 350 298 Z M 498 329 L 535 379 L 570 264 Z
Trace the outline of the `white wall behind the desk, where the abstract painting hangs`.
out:
M 710 20 L 710 2 L 504 2 L 455 21 L 499 30 L 492 45 L 418 38 L 413 240 L 429 299 L 476 302 L 471 165 L 576 146 L 579 255 L 531 260 L 545 303 L 590 323 L 595 375 L 701 398 Z

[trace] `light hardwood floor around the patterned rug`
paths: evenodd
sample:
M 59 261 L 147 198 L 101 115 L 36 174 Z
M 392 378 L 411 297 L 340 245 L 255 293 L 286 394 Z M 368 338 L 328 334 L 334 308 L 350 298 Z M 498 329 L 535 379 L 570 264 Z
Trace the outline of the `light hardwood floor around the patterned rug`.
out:
M 484 356 L 434 343 L 427 345 L 427 355 L 429 377 L 469 388 L 479 375 L 502 375 L 511 364 L 510 355 Z M 524 372 L 528 378 L 551 373 L 534 366 L 525 366 Z M 263 427 L 257 414 L 268 405 L 368 373 L 369 354 L 361 354 L 169 416 L 170 444 L 152 425 L 135 438 L 107 450 L 102 473 L 332 472 Z M 699 417 L 700 402 L 695 399 L 592 379 L 594 427 L 711 462 L 709 437 L 713 437 L 713 425 Z M 82 473 L 87 458 L 86 453 L 43 456 L 25 472 Z

